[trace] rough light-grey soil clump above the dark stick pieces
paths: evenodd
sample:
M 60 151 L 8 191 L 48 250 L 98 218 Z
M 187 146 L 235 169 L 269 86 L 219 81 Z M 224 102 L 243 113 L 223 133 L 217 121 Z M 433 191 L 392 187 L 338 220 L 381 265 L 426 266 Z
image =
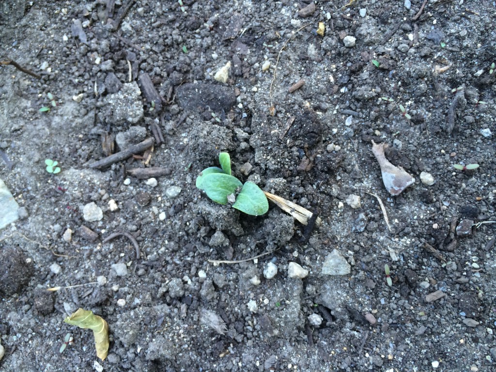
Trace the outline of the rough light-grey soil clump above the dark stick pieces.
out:
M 143 119 L 143 103 L 138 84 L 133 81 L 123 84 L 119 92 L 104 96 L 102 116 L 113 125 L 128 122 L 136 124 Z

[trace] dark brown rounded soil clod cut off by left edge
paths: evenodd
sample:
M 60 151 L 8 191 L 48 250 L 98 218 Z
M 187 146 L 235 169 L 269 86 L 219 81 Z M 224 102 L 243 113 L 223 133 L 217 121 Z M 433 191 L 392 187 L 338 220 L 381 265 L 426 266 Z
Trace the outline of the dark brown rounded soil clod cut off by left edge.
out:
M 18 248 L 3 246 L 0 249 L 0 297 L 21 293 L 29 283 L 33 268 L 27 259 Z

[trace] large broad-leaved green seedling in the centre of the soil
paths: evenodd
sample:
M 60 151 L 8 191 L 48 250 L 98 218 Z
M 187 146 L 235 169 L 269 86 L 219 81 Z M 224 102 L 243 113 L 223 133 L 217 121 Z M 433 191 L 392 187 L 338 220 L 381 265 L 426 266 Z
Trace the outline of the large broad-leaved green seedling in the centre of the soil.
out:
M 232 204 L 246 214 L 259 216 L 269 210 L 269 202 L 262 189 L 252 182 L 244 185 L 231 175 L 231 157 L 227 152 L 219 155 L 221 168 L 209 167 L 196 178 L 196 187 L 204 190 L 213 201 Z

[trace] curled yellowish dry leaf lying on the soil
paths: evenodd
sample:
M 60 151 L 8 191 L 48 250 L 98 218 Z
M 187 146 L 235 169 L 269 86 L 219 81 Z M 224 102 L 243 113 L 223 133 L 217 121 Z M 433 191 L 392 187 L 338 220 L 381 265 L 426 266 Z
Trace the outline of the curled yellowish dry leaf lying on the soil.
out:
M 89 328 L 95 336 L 96 355 L 102 361 L 109 353 L 109 325 L 101 316 L 94 315 L 91 310 L 79 308 L 72 315 L 67 316 L 64 322 L 77 325 L 79 328 Z

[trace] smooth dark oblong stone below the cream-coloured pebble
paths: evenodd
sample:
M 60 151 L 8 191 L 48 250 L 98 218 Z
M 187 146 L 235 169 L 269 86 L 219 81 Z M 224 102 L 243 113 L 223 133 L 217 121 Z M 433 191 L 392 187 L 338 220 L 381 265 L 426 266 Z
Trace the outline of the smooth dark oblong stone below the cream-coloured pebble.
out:
M 204 110 L 210 107 L 213 112 L 229 111 L 236 104 L 234 90 L 218 84 L 186 83 L 176 90 L 179 104 L 186 111 Z

